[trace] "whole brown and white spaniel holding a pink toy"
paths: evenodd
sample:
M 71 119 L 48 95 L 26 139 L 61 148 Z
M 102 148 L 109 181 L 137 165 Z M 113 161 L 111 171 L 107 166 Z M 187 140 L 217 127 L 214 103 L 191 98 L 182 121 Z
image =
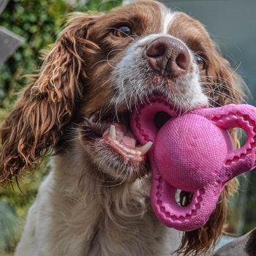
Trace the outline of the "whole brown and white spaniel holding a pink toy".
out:
M 136 145 L 129 113 L 155 93 L 183 111 L 241 102 L 238 76 L 183 12 L 138 1 L 70 17 L 1 127 L 1 182 L 54 152 L 17 256 L 171 255 L 178 246 L 196 255 L 217 241 L 234 181 L 181 244 L 151 211 L 148 146 Z

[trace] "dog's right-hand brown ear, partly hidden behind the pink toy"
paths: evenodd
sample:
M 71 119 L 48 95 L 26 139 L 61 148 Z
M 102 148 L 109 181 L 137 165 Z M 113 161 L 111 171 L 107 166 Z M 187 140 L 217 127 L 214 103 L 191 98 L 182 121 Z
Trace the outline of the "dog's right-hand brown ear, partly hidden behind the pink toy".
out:
M 212 42 L 213 46 L 214 43 Z M 207 75 L 203 80 L 206 82 L 211 99 L 211 106 L 219 107 L 231 103 L 240 104 L 243 93 L 243 80 L 230 67 L 229 62 L 222 58 L 216 51 L 211 52 L 208 56 L 209 64 Z M 214 97 L 213 97 L 214 93 Z M 233 139 L 233 144 L 236 148 L 239 147 L 239 140 L 237 138 L 236 129 L 230 131 Z M 181 246 L 178 252 L 184 255 L 200 255 L 206 253 L 212 246 L 214 246 L 219 237 L 225 230 L 225 221 L 227 217 L 227 199 L 236 192 L 238 182 L 236 178 L 229 181 L 223 189 L 222 195 L 219 197 L 219 202 L 213 214 L 208 219 L 208 222 L 203 227 L 197 230 L 185 232 L 182 237 Z

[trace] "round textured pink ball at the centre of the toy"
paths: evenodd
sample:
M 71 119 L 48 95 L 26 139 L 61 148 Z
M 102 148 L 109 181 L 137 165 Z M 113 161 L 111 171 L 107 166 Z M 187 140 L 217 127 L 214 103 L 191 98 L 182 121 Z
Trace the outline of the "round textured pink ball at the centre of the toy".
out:
M 203 116 L 172 118 L 157 134 L 154 161 L 170 185 L 191 192 L 218 176 L 228 140 L 226 130 Z

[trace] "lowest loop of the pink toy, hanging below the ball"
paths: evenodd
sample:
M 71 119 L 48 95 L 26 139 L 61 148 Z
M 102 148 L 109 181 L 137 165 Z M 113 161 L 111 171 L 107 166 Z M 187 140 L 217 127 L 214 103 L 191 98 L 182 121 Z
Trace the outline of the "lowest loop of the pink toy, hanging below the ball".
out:
M 151 161 L 154 165 L 154 162 Z M 157 167 L 152 167 L 157 172 Z M 191 203 L 179 206 L 176 203 L 176 188 L 165 181 L 161 175 L 154 174 L 151 187 L 151 205 L 154 213 L 167 227 L 181 231 L 191 231 L 205 224 L 214 211 L 222 184 L 214 183 L 193 191 Z

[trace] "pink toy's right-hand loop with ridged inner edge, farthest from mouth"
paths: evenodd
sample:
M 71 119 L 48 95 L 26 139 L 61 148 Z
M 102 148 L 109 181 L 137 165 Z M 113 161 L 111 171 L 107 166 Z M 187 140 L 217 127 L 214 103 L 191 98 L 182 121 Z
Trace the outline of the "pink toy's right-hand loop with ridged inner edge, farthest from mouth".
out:
M 222 129 L 241 128 L 247 135 L 241 148 L 230 151 L 225 160 L 227 181 L 255 167 L 256 110 L 250 105 L 226 105 L 222 108 L 204 108 L 195 113 L 205 116 Z

